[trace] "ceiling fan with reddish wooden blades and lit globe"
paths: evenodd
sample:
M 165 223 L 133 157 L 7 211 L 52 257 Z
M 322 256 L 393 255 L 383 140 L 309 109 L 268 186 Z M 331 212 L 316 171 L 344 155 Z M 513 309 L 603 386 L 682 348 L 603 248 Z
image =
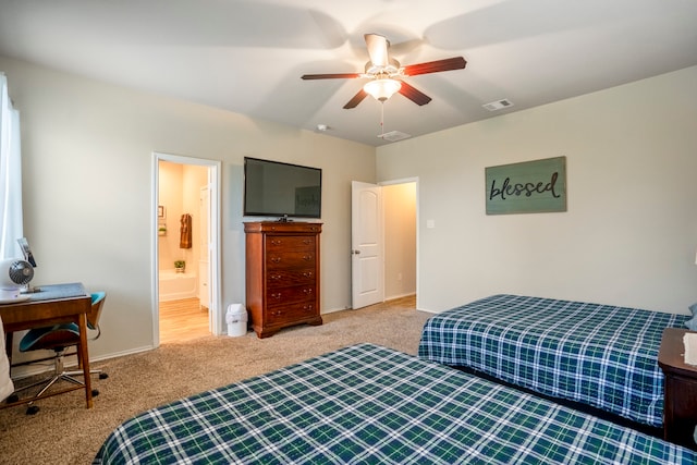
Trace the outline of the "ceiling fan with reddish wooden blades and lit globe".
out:
M 365 73 L 304 74 L 303 79 L 353 79 L 358 77 L 370 81 L 351 99 L 345 109 L 355 108 L 366 96 L 386 101 L 395 93 L 402 94 L 416 105 L 426 105 L 431 98 L 403 81 L 403 77 L 419 74 L 439 73 L 441 71 L 462 70 L 467 62 L 462 57 L 401 66 L 400 62 L 388 53 L 390 41 L 379 34 L 364 35 L 370 60 L 366 63 Z

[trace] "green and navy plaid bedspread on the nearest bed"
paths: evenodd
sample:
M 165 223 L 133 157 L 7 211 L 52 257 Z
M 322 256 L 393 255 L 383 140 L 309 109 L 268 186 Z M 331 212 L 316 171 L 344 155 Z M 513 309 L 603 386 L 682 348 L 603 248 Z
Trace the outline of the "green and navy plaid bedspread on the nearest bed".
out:
M 695 463 L 660 439 L 372 344 L 145 412 L 95 464 Z

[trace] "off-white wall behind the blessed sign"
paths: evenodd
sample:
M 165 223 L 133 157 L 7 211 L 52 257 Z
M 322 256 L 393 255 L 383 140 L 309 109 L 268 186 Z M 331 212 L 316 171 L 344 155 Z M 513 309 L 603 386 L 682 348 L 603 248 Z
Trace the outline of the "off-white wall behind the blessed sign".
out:
M 378 181 L 419 179 L 419 306 L 518 293 L 687 314 L 696 83 L 688 68 L 378 148 Z M 559 156 L 566 212 L 486 215 L 486 167 Z

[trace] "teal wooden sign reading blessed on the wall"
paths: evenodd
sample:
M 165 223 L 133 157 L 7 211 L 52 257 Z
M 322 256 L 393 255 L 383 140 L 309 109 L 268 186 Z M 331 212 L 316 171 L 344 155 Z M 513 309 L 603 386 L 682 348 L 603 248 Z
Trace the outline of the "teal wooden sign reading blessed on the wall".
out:
M 566 211 L 566 157 L 485 168 L 487 215 Z

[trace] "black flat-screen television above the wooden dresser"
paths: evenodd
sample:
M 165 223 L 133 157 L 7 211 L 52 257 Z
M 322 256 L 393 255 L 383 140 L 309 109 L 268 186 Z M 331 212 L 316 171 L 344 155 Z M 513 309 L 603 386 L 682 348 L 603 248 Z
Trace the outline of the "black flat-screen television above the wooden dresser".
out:
M 245 157 L 245 217 L 321 218 L 321 169 Z

